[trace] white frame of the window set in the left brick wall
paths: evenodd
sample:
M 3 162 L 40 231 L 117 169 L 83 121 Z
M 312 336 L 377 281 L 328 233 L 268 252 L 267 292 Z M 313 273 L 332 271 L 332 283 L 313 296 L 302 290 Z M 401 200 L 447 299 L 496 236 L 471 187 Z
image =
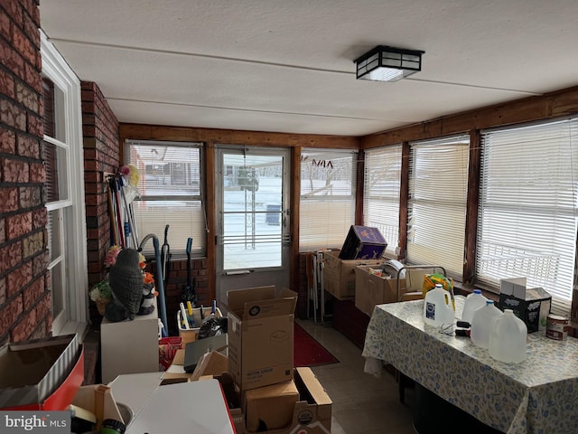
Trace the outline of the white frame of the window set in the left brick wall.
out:
M 66 233 L 66 242 L 61 246 L 66 273 L 63 277 L 65 288 L 61 290 L 64 301 L 62 315 L 53 317 L 52 335 L 78 333 L 82 339 L 88 326 L 88 259 L 87 231 L 84 193 L 84 150 L 82 140 L 82 112 L 80 99 L 80 80 L 62 58 L 60 52 L 48 41 L 42 30 L 41 55 L 42 75 L 51 80 L 62 91 L 63 137 L 56 143 L 51 137 L 44 140 L 55 143 L 68 153 L 67 185 L 68 198 L 63 201 L 46 203 L 48 212 L 61 209 L 63 221 L 61 234 Z M 61 239 L 63 241 L 63 239 Z M 49 264 L 49 269 L 55 264 Z

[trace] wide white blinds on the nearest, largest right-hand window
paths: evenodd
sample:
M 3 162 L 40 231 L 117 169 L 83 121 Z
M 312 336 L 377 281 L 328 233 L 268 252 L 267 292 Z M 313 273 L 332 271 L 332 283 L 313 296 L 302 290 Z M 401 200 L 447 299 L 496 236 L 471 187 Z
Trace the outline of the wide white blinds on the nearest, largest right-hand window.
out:
M 559 313 L 572 301 L 578 187 L 578 121 L 482 132 L 476 273 L 527 278 Z

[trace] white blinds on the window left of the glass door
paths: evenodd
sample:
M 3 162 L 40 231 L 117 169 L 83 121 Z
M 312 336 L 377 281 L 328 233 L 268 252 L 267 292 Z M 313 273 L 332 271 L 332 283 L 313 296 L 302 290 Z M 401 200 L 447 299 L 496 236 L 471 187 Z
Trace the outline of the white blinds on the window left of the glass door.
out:
M 140 179 L 133 208 L 138 242 L 153 233 L 162 247 L 164 230 L 172 254 L 184 254 L 192 238 L 191 255 L 206 254 L 206 220 L 202 189 L 200 143 L 127 140 L 125 163 L 138 168 Z M 154 254 L 153 241 L 144 254 Z

